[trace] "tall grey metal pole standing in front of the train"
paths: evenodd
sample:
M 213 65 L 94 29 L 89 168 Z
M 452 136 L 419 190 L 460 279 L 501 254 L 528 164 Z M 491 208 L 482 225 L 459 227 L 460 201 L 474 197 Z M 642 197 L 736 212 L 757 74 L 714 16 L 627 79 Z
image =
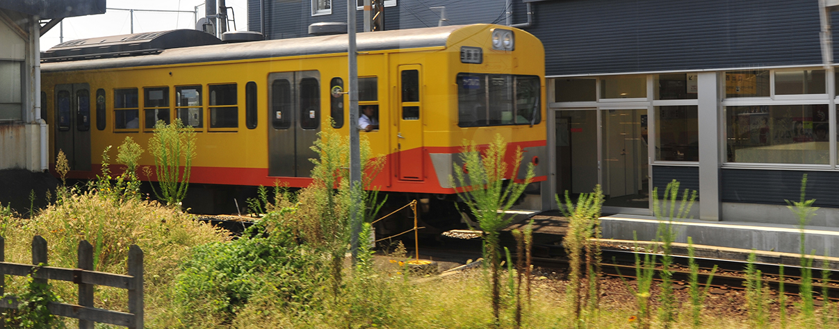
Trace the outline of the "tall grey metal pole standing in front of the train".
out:
M 365 3 L 369 0 L 365 0 Z M 350 122 L 347 125 L 350 129 L 350 195 L 352 203 L 350 208 L 350 250 L 352 261 L 355 262 L 358 256 L 358 234 L 362 231 L 362 218 L 359 216 L 360 193 L 362 190 L 362 165 L 361 152 L 358 142 L 358 59 L 356 50 L 356 0 L 347 0 L 347 36 L 349 46 L 347 47 L 347 58 L 349 61 L 349 81 L 347 89 L 350 93 Z

